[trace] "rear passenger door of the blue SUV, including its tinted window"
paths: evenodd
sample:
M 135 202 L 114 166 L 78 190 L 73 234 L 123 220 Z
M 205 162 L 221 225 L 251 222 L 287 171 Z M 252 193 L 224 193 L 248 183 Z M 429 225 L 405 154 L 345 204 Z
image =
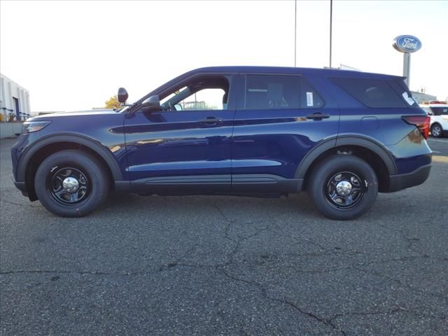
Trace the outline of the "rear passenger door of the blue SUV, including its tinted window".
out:
M 319 78 L 241 74 L 232 141 L 232 190 L 248 191 L 256 185 L 258 191 L 272 191 L 272 183 L 294 179 L 304 156 L 337 136 L 338 123 L 337 105 L 325 94 Z

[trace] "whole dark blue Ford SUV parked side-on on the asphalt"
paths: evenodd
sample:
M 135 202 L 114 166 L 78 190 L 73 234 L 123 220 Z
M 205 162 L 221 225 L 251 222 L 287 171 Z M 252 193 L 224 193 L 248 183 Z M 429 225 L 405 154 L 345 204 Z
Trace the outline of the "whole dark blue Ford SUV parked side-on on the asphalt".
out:
M 111 190 L 279 196 L 307 190 L 334 219 L 428 178 L 429 117 L 402 77 L 260 66 L 197 69 L 110 112 L 24 123 L 15 186 L 78 217 Z M 299 206 L 299 204 L 297 204 Z

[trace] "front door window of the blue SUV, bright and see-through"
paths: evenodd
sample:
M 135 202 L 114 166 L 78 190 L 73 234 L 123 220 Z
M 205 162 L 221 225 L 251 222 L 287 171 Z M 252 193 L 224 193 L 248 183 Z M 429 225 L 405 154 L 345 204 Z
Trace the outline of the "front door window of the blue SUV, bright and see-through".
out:
M 195 77 L 161 96 L 160 106 L 165 111 L 226 110 L 229 86 L 227 76 Z

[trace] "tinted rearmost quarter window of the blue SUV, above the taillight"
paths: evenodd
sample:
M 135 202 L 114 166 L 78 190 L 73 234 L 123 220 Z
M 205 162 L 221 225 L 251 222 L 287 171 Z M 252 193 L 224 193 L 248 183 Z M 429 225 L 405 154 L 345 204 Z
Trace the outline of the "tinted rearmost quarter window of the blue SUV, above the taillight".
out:
M 365 106 L 374 108 L 407 107 L 388 80 L 361 78 L 332 78 L 339 87 Z

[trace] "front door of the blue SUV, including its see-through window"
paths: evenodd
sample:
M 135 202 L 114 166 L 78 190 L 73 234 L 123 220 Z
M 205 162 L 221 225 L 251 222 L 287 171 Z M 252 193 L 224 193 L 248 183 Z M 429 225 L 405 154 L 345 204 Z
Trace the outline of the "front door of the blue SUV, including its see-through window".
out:
M 127 178 L 153 193 L 230 190 L 232 76 L 195 76 L 125 120 Z M 179 87 L 181 86 L 181 87 Z

